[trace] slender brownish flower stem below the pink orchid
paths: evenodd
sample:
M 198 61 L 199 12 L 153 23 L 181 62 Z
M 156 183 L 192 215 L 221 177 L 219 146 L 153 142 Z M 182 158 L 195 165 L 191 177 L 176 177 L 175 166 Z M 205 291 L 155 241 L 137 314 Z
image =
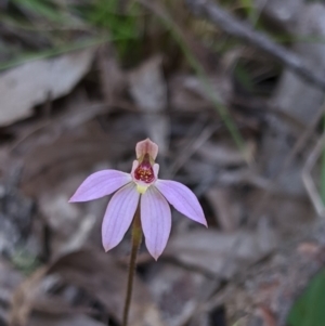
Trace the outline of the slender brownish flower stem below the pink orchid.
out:
M 131 303 L 132 288 L 133 288 L 133 276 L 136 268 L 136 256 L 138 256 L 139 247 L 141 245 L 141 240 L 142 240 L 142 229 L 141 229 L 141 221 L 140 221 L 140 209 L 138 207 L 132 223 L 132 248 L 131 248 L 131 257 L 130 257 L 130 264 L 129 264 L 128 286 L 127 286 L 127 296 L 125 301 L 122 326 L 128 325 L 128 316 L 130 311 L 130 303 Z

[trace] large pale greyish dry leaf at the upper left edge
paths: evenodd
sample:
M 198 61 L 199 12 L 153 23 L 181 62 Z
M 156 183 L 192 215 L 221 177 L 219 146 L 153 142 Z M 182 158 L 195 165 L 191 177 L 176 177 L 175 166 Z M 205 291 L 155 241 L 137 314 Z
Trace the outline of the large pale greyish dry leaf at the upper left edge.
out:
M 70 92 L 89 70 L 95 49 L 28 62 L 0 75 L 0 126 L 30 116 L 35 105 Z

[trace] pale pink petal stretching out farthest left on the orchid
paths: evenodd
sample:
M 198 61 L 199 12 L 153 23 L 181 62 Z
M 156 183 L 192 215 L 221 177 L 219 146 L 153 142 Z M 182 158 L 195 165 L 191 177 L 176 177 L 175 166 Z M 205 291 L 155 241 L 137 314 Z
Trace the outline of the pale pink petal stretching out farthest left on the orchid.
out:
M 77 188 L 69 203 L 88 201 L 110 195 L 132 181 L 129 173 L 116 170 L 103 170 L 90 174 Z

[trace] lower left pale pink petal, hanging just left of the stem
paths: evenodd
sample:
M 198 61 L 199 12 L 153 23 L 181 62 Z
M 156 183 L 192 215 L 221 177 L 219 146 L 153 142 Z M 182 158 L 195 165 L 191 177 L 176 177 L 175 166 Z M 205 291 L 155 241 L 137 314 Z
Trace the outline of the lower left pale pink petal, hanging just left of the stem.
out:
M 125 236 L 133 220 L 139 197 L 133 182 L 112 197 L 102 224 L 102 240 L 106 251 L 117 246 Z

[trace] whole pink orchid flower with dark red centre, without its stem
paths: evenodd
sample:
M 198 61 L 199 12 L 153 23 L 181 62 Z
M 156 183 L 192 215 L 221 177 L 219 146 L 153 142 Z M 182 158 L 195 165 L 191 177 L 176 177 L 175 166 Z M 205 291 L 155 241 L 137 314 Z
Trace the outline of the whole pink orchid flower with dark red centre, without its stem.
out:
M 102 240 L 106 251 L 117 246 L 128 231 L 138 205 L 145 244 L 157 260 L 164 251 L 171 229 L 169 205 L 187 218 L 207 226 L 203 209 L 195 195 L 182 183 L 158 179 L 155 164 L 158 146 L 150 139 L 135 147 L 136 160 L 131 173 L 103 170 L 89 175 L 69 203 L 98 199 L 114 192 L 102 224 Z M 168 203 L 167 203 L 168 201 Z

